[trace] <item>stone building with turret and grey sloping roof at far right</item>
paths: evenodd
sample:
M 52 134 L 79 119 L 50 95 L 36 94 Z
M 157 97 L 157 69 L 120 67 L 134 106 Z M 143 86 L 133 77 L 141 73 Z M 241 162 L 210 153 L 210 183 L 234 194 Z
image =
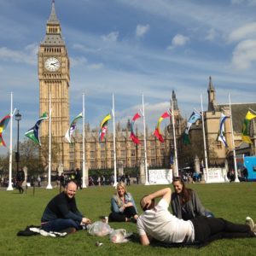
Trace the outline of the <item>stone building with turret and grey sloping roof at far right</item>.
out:
M 230 166 L 233 163 L 233 140 L 230 121 L 230 104 L 218 104 L 216 102 L 216 90 L 212 84 L 212 78 L 209 78 L 208 84 L 208 108 L 204 110 L 204 123 L 205 123 L 205 135 L 207 144 L 207 160 L 209 166 L 224 166 L 225 160 L 229 160 Z M 229 102 L 227 94 L 227 102 Z M 241 130 L 243 120 L 247 114 L 249 108 L 256 110 L 256 103 L 232 103 L 231 113 L 233 122 L 233 135 L 237 154 L 253 155 L 255 154 L 256 143 L 256 124 L 255 120 L 252 120 L 251 124 L 251 138 L 252 145 L 243 143 L 241 141 Z M 219 131 L 219 119 L 221 112 L 227 116 L 224 122 L 225 139 L 228 144 L 228 148 L 224 147 L 224 144 L 217 140 Z M 203 148 L 203 134 L 202 134 L 202 122 L 198 120 L 191 126 L 189 131 L 189 137 L 191 144 L 182 145 L 184 162 L 187 164 L 193 163 L 195 156 L 198 156 L 200 160 L 205 161 L 204 148 Z

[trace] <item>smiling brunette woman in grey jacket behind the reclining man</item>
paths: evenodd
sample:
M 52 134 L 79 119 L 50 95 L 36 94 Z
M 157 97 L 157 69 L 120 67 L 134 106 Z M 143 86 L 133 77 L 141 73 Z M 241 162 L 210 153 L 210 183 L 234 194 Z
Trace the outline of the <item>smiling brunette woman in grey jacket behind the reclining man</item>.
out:
M 214 217 L 212 212 L 202 206 L 193 189 L 187 189 L 181 177 L 173 177 L 172 212 L 177 218 L 188 220 L 197 216 Z

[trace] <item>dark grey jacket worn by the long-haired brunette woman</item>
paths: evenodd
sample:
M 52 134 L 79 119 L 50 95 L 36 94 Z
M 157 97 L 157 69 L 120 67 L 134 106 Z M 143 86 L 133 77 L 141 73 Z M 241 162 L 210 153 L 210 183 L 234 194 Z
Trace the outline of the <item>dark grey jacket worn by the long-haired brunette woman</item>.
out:
M 185 220 L 195 218 L 196 216 L 205 216 L 206 209 L 202 206 L 198 195 L 192 190 L 191 200 L 187 201 L 183 206 L 177 193 L 172 193 L 172 212 L 177 218 Z M 183 209 L 182 209 L 183 207 Z

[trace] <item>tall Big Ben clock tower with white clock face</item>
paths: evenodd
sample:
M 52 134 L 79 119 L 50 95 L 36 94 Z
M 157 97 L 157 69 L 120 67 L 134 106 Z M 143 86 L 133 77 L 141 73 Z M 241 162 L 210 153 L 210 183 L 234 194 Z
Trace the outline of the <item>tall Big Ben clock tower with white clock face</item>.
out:
M 55 13 L 55 0 L 52 0 L 51 13 L 46 24 L 46 34 L 38 49 L 38 79 L 40 114 L 49 113 L 51 106 L 51 137 L 59 148 L 52 168 L 59 165 L 68 168 L 67 147 L 64 141 L 69 124 L 69 58 L 64 40 L 61 38 L 61 24 Z M 48 143 L 49 119 L 40 127 L 42 143 Z

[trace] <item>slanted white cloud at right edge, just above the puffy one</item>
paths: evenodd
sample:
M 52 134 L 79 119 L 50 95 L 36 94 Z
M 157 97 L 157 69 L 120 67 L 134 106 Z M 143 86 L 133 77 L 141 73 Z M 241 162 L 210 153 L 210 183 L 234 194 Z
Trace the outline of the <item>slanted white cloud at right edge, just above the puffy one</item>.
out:
M 229 36 L 229 41 L 236 42 L 247 38 L 256 38 L 256 22 L 248 23 L 232 31 Z

